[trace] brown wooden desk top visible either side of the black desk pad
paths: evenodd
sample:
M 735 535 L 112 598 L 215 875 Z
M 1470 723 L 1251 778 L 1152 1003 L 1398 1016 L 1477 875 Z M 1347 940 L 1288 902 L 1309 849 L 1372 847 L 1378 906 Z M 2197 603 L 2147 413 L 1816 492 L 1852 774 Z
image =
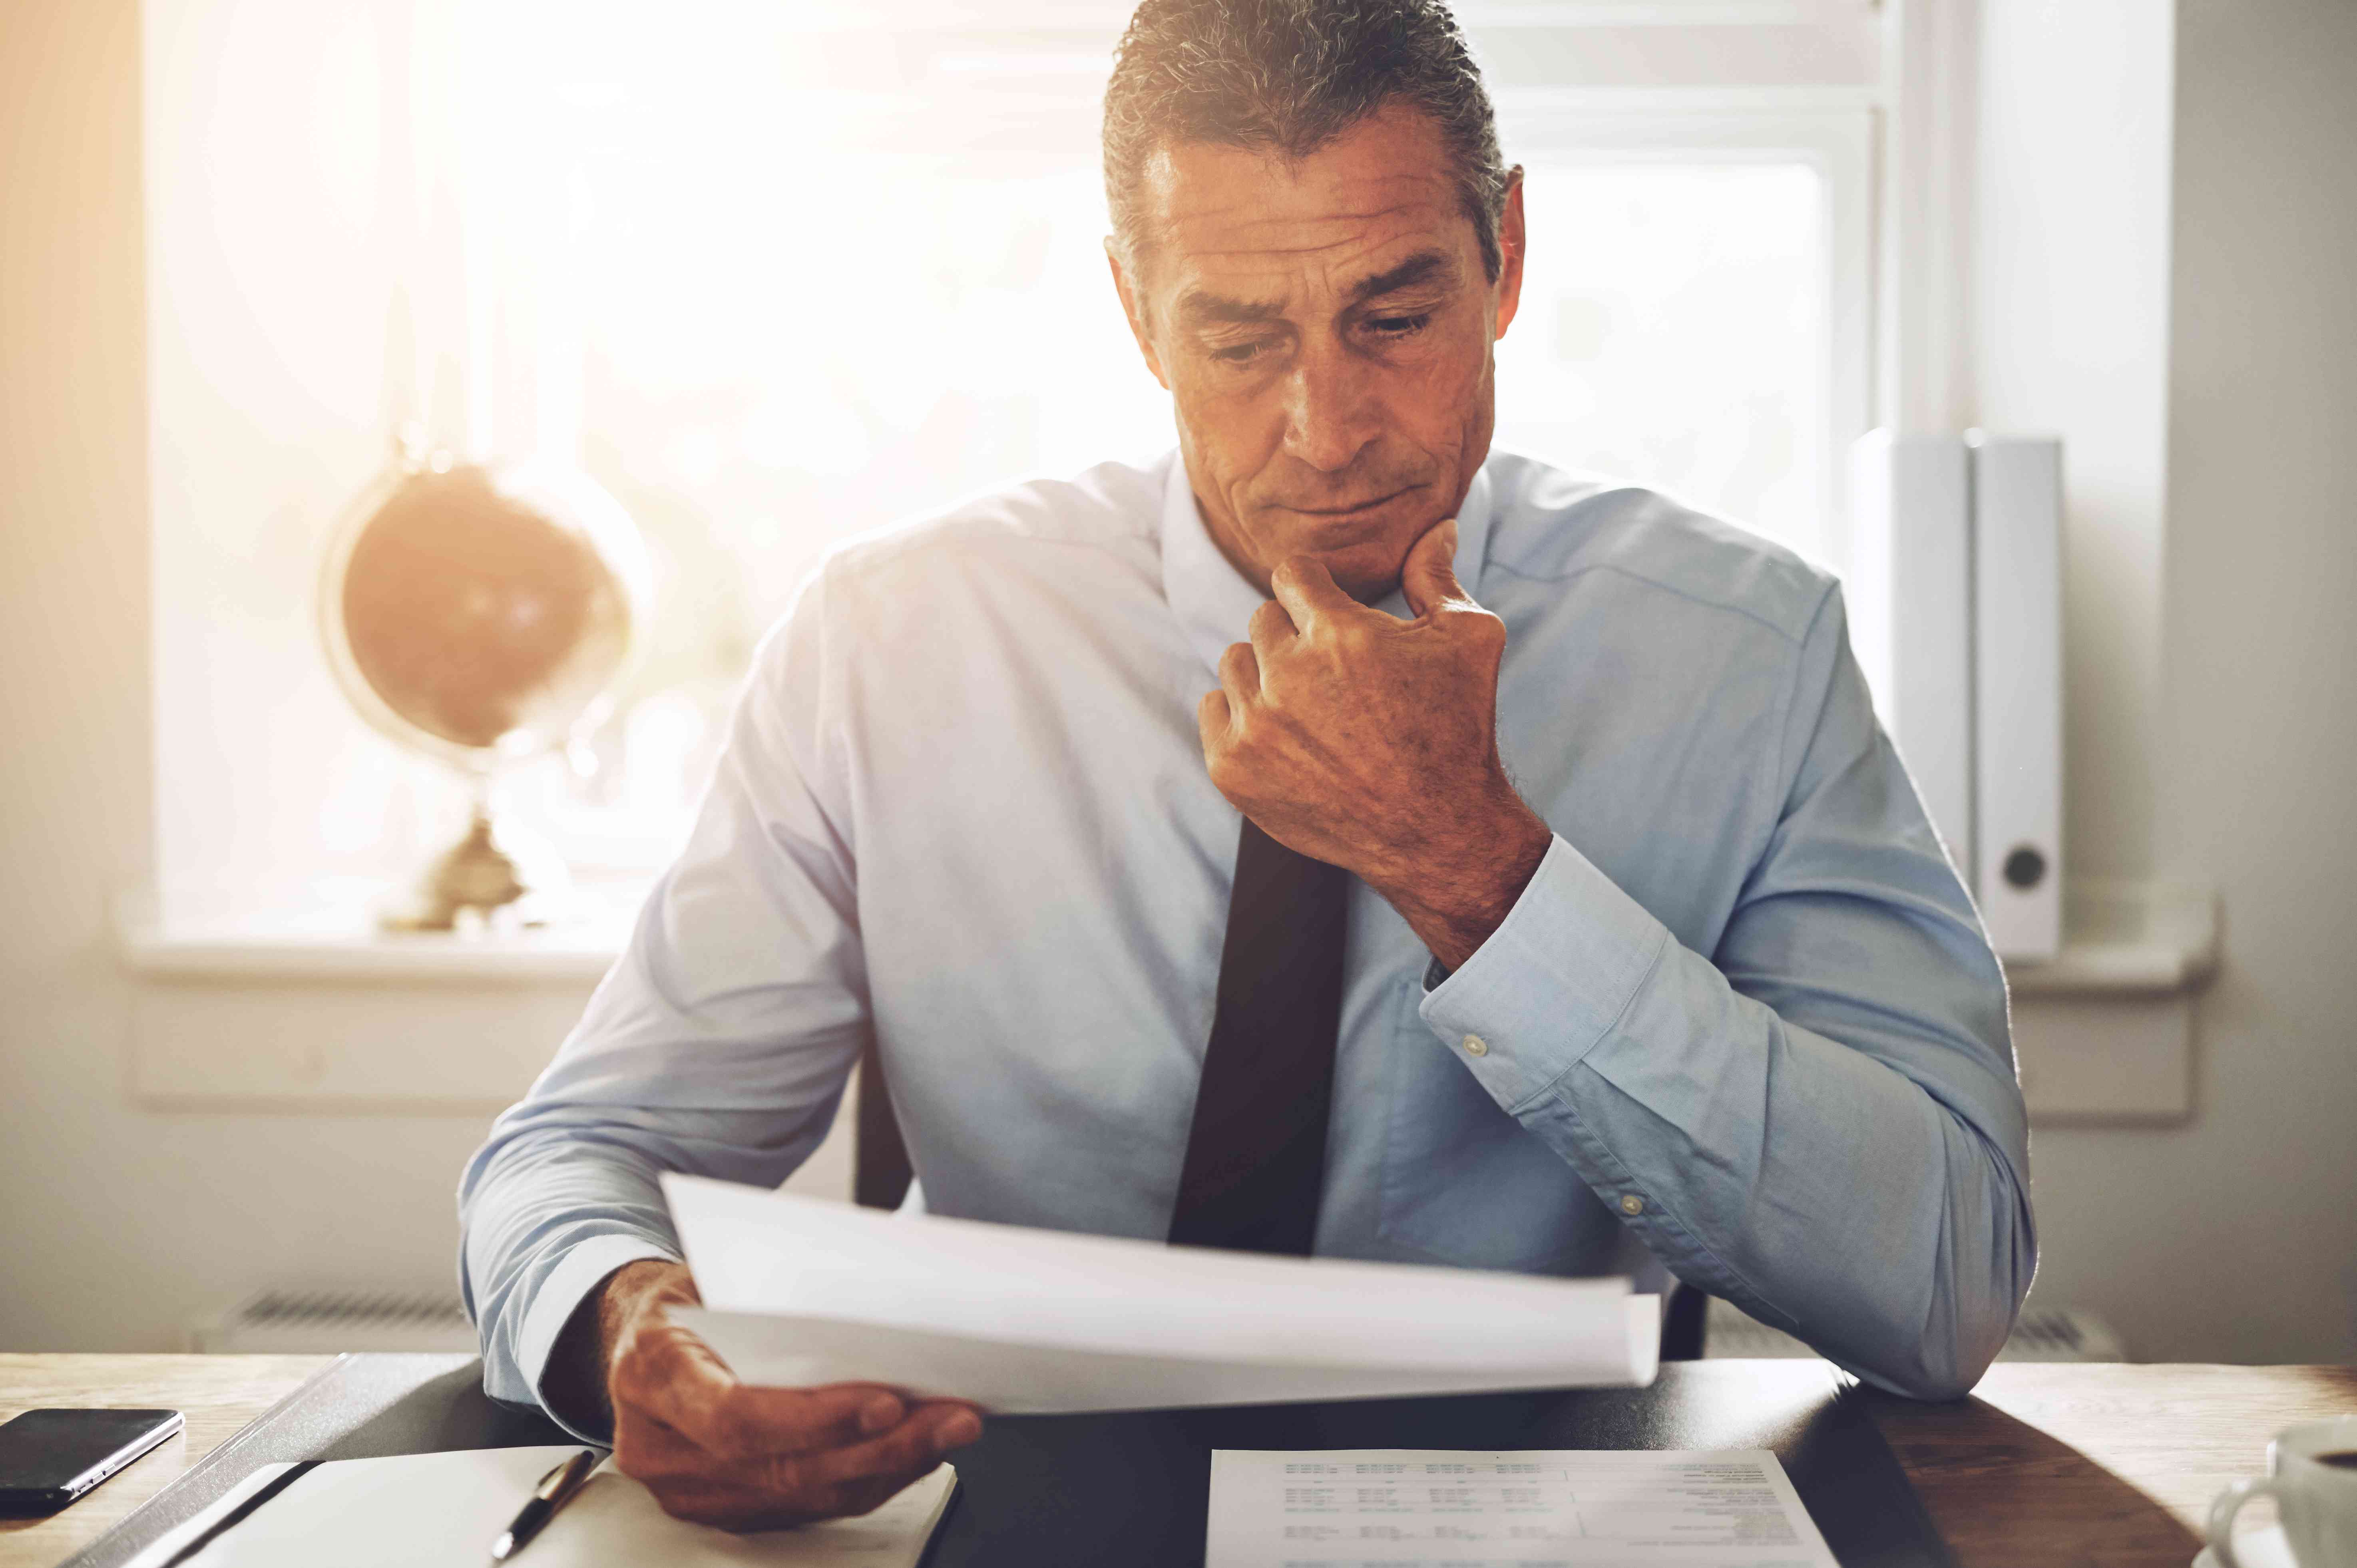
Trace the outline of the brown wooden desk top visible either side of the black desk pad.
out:
M 54 1568 L 325 1356 L 0 1356 L 0 1419 L 165 1405 L 189 1429 L 54 1518 L 0 1518 L 0 1568 Z M 1992 1368 L 1968 1401 L 1874 1415 L 1961 1568 L 2187 1568 L 2211 1495 L 2291 1422 L 2357 1412 L 2357 1368 Z

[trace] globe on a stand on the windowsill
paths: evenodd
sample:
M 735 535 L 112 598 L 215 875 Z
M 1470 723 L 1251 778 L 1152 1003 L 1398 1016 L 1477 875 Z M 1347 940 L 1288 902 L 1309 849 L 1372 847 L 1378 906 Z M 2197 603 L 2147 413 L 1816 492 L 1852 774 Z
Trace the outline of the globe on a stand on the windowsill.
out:
M 563 861 L 493 813 L 493 780 L 603 719 L 646 620 L 646 547 L 594 479 L 408 455 L 354 505 L 321 585 L 328 663 L 391 740 L 471 790 L 467 835 L 420 877 L 398 931 L 542 924 Z

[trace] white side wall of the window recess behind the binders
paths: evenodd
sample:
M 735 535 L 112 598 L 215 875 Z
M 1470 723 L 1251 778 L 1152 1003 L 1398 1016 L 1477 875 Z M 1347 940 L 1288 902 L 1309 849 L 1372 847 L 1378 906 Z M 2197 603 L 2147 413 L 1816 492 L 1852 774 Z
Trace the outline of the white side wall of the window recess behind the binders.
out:
M 1954 7 L 1975 9 L 1975 7 Z M 2062 434 L 2072 875 L 2152 870 L 2168 436 L 2168 0 L 1980 0 L 1973 422 Z

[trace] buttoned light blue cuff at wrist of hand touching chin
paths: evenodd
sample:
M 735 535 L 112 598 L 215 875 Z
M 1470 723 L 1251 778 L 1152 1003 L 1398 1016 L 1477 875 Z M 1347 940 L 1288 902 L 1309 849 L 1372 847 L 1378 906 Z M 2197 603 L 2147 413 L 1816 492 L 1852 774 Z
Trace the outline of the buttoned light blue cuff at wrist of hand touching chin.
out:
M 1490 941 L 1454 974 L 1426 969 L 1419 1012 L 1518 1113 L 1617 1028 L 1669 943 L 1669 927 L 1558 835 Z

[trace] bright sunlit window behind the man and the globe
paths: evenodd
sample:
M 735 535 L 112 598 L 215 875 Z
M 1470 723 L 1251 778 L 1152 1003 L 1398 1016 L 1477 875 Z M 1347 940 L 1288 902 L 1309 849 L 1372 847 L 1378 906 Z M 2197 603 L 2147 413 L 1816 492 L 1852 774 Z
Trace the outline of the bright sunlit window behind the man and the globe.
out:
M 344 712 L 309 613 L 403 415 L 471 453 L 570 455 L 646 533 L 658 611 L 622 700 L 509 785 L 575 863 L 632 872 L 676 842 L 820 552 L 1167 448 L 1098 248 L 1124 17 L 153 0 L 167 917 L 401 875 L 450 832 L 455 790 Z M 1530 179 L 1499 443 L 1838 566 L 1834 455 L 1867 424 L 1871 12 L 1461 17 Z

